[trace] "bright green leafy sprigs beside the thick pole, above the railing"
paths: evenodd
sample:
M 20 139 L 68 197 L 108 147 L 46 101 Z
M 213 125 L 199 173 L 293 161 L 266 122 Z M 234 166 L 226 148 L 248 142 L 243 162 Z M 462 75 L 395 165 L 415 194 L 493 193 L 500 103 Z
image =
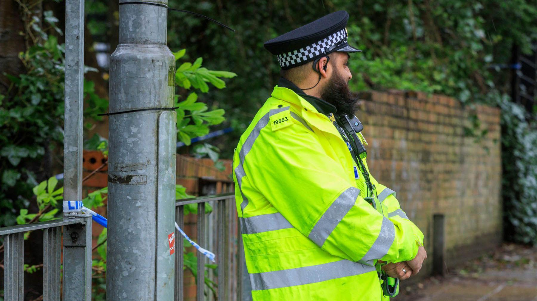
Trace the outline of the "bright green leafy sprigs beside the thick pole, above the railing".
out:
M 185 55 L 185 49 L 173 52 L 176 61 Z M 233 78 L 237 74 L 228 71 L 213 71 L 201 67 L 203 59 L 197 58 L 194 63 L 185 62 L 181 64 L 175 73 L 178 87 L 186 90 L 198 89 L 202 93 L 209 91 L 207 83 L 218 89 L 226 87 L 226 82 L 221 78 Z M 207 105 L 198 101 L 198 94 L 191 92 L 184 101 L 179 101 L 180 96 L 175 96 L 177 108 L 177 138 L 185 145 L 191 144 L 191 139 L 204 136 L 209 133 L 209 126 L 217 125 L 224 121 L 223 109 L 209 110 Z

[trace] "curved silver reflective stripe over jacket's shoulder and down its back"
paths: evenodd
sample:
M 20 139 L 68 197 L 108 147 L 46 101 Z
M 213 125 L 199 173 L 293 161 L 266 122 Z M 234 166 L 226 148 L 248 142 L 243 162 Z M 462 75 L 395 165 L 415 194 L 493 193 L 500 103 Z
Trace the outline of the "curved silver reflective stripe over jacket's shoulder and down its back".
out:
M 270 112 L 263 115 L 263 117 L 261 117 L 261 119 L 259 119 L 259 121 L 257 122 L 256 126 L 253 127 L 253 130 L 248 135 L 248 138 L 246 138 L 246 140 L 244 141 L 241 147 L 241 151 L 238 153 L 239 163 L 237 167 L 235 168 L 235 176 L 237 177 L 238 188 L 239 190 L 241 190 L 241 195 L 242 195 L 241 212 L 244 212 L 244 207 L 248 205 L 248 198 L 246 198 L 246 196 L 242 192 L 242 177 L 245 176 L 244 157 L 248 155 L 248 153 L 252 149 L 253 142 L 256 142 L 256 139 L 257 137 L 259 137 L 259 133 L 261 132 L 263 127 L 269 124 L 270 115 L 274 115 L 276 113 L 289 110 L 289 108 L 291 107 L 272 109 L 270 110 Z

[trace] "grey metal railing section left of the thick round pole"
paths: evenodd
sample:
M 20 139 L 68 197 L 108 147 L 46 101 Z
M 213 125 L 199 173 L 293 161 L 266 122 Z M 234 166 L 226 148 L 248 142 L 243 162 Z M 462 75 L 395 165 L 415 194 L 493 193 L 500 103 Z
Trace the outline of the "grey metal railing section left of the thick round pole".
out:
M 81 265 L 91 267 L 91 215 L 77 215 L 0 228 L 0 237 L 4 239 L 4 300 L 24 299 L 24 233 L 35 230 L 44 232 L 43 300 L 60 300 L 62 229 L 63 300 L 83 298 L 83 295 L 70 298 L 81 289 L 86 296 L 91 296 L 91 274 L 80 275 L 82 269 L 77 269 Z

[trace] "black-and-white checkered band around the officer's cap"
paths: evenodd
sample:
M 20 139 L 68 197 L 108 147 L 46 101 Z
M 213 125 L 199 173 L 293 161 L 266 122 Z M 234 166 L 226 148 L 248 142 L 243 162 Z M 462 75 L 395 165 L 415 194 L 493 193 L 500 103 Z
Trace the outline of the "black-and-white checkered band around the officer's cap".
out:
M 279 54 L 277 55 L 278 62 L 280 63 L 280 67 L 296 65 L 320 54 L 326 53 L 326 50 L 342 40 L 343 42 L 347 41 L 347 31 L 345 29 L 333 33 L 328 37 L 325 37 L 323 40 L 315 42 L 305 48 Z

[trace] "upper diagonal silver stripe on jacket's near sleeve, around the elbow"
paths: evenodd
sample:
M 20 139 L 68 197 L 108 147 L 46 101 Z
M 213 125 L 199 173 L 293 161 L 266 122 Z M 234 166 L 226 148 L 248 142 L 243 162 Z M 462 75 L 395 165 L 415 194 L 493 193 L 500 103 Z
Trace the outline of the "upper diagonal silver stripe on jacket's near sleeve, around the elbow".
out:
M 360 195 L 360 190 L 355 187 L 350 187 L 342 192 L 317 221 L 308 235 L 309 239 L 322 247 L 326 238 L 330 236 L 338 223 L 351 210 L 352 206 L 354 206 L 358 195 Z

